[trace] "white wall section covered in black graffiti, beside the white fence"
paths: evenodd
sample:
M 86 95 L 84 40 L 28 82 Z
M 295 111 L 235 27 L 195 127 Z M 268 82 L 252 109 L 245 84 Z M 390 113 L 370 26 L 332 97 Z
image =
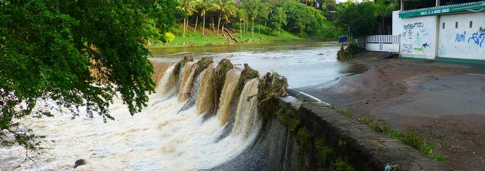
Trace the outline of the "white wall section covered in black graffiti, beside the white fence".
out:
M 399 18 L 392 13 L 392 34 L 401 35 L 400 56 L 435 59 L 436 16 Z

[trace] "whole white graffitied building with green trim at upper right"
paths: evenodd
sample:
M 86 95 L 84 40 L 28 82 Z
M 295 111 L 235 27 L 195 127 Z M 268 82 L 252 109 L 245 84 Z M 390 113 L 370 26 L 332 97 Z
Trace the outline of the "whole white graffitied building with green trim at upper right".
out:
M 400 8 L 392 13 L 400 57 L 485 63 L 485 0 L 400 0 Z

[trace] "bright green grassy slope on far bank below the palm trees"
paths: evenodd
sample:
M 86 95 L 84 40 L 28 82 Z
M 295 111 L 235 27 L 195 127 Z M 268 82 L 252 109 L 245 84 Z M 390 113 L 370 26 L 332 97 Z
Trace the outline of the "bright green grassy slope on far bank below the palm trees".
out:
M 207 23 L 206 23 L 207 24 Z M 249 25 L 251 26 L 251 25 Z M 207 26 L 206 26 L 207 27 Z M 237 28 L 236 28 L 237 27 Z M 233 26 L 234 31 L 239 32 L 239 24 Z M 260 34 L 258 34 L 258 28 Z M 202 29 L 201 24 L 197 27 L 197 31 L 194 33 L 194 27 L 189 26 L 187 27 L 187 31 L 185 33 L 185 37 L 182 37 L 183 33 L 183 25 L 180 24 L 173 28 L 173 32 L 175 33 L 175 40 L 172 43 L 165 43 L 165 44 L 155 44 L 151 47 L 182 47 L 182 46 L 190 46 L 192 42 L 194 46 L 204 46 L 204 45 L 228 45 L 228 44 L 237 44 L 235 42 L 229 42 L 219 34 L 219 37 L 216 36 L 216 32 L 210 33 L 208 29 L 205 29 L 205 37 L 202 37 Z M 281 31 L 280 35 L 270 35 L 271 30 L 266 28 L 263 25 L 254 24 L 254 37 L 251 35 L 251 29 L 248 29 L 247 33 L 241 34 L 236 33 L 232 34 L 235 38 L 239 40 L 239 43 L 247 43 L 247 39 L 251 39 L 251 43 L 274 43 L 274 42 L 285 42 L 285 41 L 305 41 L 306 39 L 286 32 L 284 30 Z M 185 45 L 184 45 L 185 43 Z

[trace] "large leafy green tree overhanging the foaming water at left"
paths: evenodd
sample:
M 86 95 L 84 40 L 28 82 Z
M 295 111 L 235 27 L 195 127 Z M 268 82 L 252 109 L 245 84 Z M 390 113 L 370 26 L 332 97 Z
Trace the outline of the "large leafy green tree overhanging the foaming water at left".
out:
M 133 115 L 154 91 L 143 45 L 175 22 L 174 0 L 1 0 L 0 143 L 40 150 L 43 136 L 21 124 L 52 107 L 114 119 L 120 95 Z M 156 29 L 153 29 L 156 28 Z M 84 109 L 83 109 L 84 110 Z

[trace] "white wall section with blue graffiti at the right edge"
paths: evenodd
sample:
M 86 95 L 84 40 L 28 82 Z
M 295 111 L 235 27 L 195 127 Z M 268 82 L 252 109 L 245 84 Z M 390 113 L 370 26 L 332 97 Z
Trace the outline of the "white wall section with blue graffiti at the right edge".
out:
M 485 60 L 485 12 L 439 16 L 438 30 L 439 57 Z

